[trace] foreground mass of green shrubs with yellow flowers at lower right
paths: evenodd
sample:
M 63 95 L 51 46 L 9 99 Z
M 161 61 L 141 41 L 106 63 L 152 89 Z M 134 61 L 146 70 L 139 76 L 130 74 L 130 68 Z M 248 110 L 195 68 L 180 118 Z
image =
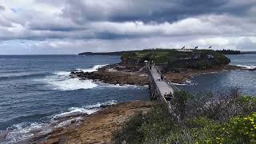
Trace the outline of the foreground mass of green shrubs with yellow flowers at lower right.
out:
M 176 99 L 175 99 L 176 97 Z M 177 98 L 181 97 L 181 98 Z M 255 143 L 256 98 L 238 88 L 222 93 L 175 93 L 174 110 L 158 104 L 131 118 L 116 132 L 115 143 Z M 174 116 L 177 115 L 177 118 Z

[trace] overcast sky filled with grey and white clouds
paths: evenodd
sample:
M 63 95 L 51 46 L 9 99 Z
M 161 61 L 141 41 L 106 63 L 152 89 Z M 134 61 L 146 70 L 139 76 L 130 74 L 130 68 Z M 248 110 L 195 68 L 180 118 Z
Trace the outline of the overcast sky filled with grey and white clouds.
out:
M 0 0 L 0 54 L 256 50 L 256 0 Z

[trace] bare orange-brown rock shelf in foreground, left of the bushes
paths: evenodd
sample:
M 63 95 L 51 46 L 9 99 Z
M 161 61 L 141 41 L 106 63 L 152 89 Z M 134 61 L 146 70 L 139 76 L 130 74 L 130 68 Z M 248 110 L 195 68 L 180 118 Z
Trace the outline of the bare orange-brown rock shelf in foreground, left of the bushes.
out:
M 50 134 L 30 138 L 31 143 L 110 143 L 116 130 L 120 130 L 135 114 L 146 114 L 154 102 L 122 102 L 82 116 L 70 126 L 55 128 Z

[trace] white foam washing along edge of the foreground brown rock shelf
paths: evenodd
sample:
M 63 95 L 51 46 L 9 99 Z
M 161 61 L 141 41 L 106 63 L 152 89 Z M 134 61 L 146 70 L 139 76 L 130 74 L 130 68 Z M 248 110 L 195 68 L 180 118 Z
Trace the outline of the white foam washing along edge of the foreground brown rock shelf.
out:
M 54 128 L 70 126 L 72 122 L 79 122 L 82 120 L 82 116 L 79 114 L 93 114 L 94 112 L 101 109 L 103 106 L 112 106 L 116 104 L 116 101 L 108 102 L 98 102 L 94 105 L 82 106 L 82 107 L 71 107 L 67 112 L 61 114 L 56 114 L 52 116 L 50 122 L 46 123 L 29 123 L 22 122 L 15 124 L 10 128 L 0 131 L 0 136 L 5 135 L 0 138 L 0 143 L 26 143 L 26 140 L 34 137 L 35 135 L 45 135 L 50 134 Z M 68 118 L 70 116 L 70 118 Z

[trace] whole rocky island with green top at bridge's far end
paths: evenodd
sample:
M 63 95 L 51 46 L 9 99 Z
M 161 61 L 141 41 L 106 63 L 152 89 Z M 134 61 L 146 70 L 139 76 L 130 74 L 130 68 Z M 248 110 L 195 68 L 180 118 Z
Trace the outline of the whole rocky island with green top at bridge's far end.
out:
M 110 53 L 82 53 L 79 55 L 119 55 L 121 62 L 102 67 L 93 73 L 74 71 L 72 77 L 94 79 L 101 82 L 120 85 L 148 84 L 145 66 L 156 65 L 174 83 L 186 83 L 190 78 L 200 74 L 223 70 L 242 69 L 230 66 L 230 59 L 221 51 L 215 50 L 134 50 Z M 149 62 L 146 64 L 146 62 Z M 152 63 L 153 62 L 153 63 Z

